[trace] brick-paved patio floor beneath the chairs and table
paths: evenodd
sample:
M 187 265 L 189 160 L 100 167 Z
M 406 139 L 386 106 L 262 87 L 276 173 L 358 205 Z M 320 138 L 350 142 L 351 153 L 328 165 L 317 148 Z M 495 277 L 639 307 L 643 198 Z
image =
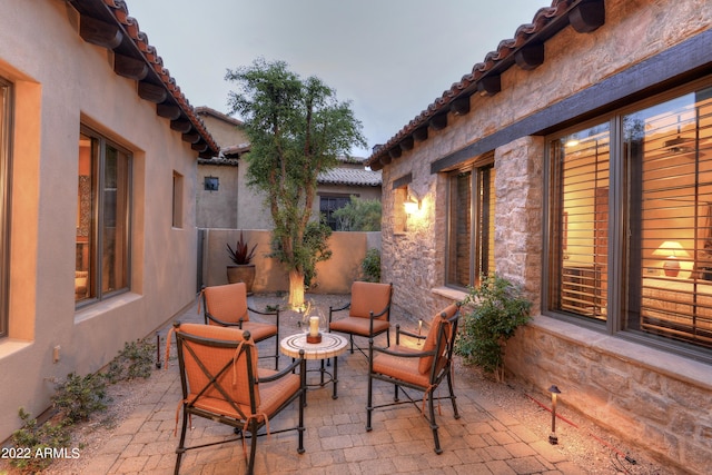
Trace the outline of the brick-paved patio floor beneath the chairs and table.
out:
M 315 297 L 319 306 L 344 303 L 347 296 Z M 276 304 L 275 297 L 250 297 L 257 308 Z M 202 323 L 196 305 L 180 318 L 181 321 Z M 298 331 L 298 314 L 285 311 L 280 320 L 280 335 Z M 395 323 L 415 326 L 407 321 Z M 161 358 L 170 325 L 160 331 Z M 385 336 L 379 337 L 385 344 Z M 260 344 L 273 345 L 274 340 Z M 146 393 L 130 409 L 101 445 L 76 461 L 68 468 L 67 461 L 55 463 L 49 473 L 172 473 L 178 439 L 174 435 L 180 399 L 178 364 L 172 344 L 168 368 L 157 370 L 148 382 Z M 284 362 L 287 357 L 283 356 Z M 165 362 L 164 362 L 165 364 Z M 267 363 L 268 364 L 268 363 Z M 317 362 L 309 362 L 316 367 Z M 296 433 L 260 437 L 255 473 L 291 474 L 309 469 L 315 474 L 386 474 L 386 473 L 462 473 L 462 474 L 583 474 L 589 473 L 566 459 L 562 452 L 545 437 L 532 433 L 512 417 L 512 414 L 491 399 L 481 397 L 472 382 L 458 368 L 455 393 L 462 417 L 453 418 L 449 404 L 442 405 L 438 415 L 442 455 L 433 451 L 433 437 L 425 419 L 412 405 L 396 409 L 374 412 L 373 432 L 366 432 L 367 363 L 358 352 L 339 356 L 338 399 L 332 398 L 330 385 L 310 389 L 305 409 L 305 449 L 296 449 Z M 310 375 L 312 378 L 316 377 Z M 375 397 L 390 399 L 393 387 L 375 383 Z M 444 388 L 439 389 L 444 390 Z M 296 410 L 294 412 L 296 417 Z M 270 420 L 273 429 L 287 424 L 287 410 Z M 188 441 L 204 441 L 231 436 L 229 427 L 194 417 L 194 431 Z M 202 442 L 202 441 L 201 441 Z M 245 473 L 243 447 L 239 442 L 188 452 L 181 464 L 181 474 Z

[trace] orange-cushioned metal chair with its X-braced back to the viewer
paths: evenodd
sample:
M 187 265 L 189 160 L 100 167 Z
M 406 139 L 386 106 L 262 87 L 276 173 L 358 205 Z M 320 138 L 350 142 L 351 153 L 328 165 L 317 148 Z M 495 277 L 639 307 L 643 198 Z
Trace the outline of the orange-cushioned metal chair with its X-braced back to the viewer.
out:
M 176 475 L 186 451 L 240 439 L 247 473 L 251 474 L 257 437 L 266 434 L 297 431 L 297 452 L 304 453 L 304 356 L 281 372 L 258 368 L 257 347 L 249 331 L 200 324 L 175 324 L 174 330 L 182 388 L 182 425 L 176 448 Z M 295 374 L 297 367 L 299 372 Z M 269 423 L 274 417 L 296 399 L 299 399 L 295 407 L 298 410 L 297 425 L 270 431 Z M 239 436 L 187 447 L 186 431 L 191 416 L 226 424 Z M 266 427 L 266 433 L 258 434 L 263 427 Z M 250 439 L 249 456 L 246 438 Z

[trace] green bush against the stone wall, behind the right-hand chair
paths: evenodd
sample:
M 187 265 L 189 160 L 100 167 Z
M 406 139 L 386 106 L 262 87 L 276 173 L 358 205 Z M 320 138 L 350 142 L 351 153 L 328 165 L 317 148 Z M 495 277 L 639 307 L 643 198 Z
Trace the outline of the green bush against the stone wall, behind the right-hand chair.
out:
M 503 382 L 506 342 L 530 320 L 531 301 L 520 287 L 492 275 L 469 289 L 464 306 L 472 310 L 463 313 L 455 353 Z

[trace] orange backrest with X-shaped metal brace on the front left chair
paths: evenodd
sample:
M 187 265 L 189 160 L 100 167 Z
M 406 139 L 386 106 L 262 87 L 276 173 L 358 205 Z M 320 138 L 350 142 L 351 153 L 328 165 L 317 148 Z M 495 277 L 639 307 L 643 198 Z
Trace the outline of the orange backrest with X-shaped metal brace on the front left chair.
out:
M 186 377 L 184 398 L 211 398 L 233 406 L 237 413 L 259 407 L 257 348 L 239 329 L 181 324 L 176 330 L 181 373 Z M 245 416 L 243 414 L 243 416 Z

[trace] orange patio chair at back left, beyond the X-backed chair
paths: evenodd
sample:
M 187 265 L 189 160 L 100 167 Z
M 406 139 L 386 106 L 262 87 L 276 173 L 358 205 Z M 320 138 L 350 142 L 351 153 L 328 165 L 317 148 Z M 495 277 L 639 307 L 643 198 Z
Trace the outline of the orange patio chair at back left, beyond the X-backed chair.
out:
M 275 353 L 264 358 L 275 358 L 275 369 L 279 369 L 279 309 L 260 311 L 247 305 L 245 283 L 227 284 L 202 288 L 205 323 L 248 330 L 257 343 L 275 338 Z M 275 316 L 275 324 L 251 321 L 249 313 Z

